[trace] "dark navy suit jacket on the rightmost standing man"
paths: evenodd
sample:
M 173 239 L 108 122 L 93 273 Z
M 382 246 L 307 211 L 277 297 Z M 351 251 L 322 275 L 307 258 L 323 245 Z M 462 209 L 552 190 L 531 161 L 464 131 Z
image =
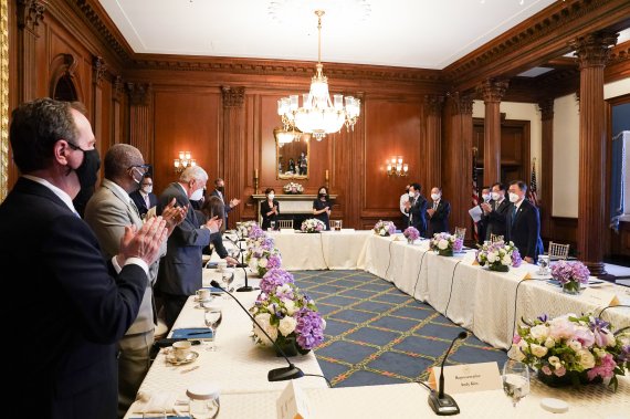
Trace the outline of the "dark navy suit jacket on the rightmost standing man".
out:
M 507 240 L 514 242 L 522 258 L 529 256 L 536 262 L 538 254 L 543 253 L 538 209 L 524 199 L 513 219 L 514 208 L 514 203 L 510 203 L 505 214 Z

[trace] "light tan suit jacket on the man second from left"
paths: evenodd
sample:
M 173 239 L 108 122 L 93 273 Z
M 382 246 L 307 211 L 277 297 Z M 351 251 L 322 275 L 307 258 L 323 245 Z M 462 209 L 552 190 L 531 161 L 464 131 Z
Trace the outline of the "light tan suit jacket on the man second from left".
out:
M 85 208 L 85 222 L 90 224 L 92 231 L 96 234 L 103 255 L 107 260 L 118 254 L 120 238 L 125 233 L 125 226 L 135 224 L 138 230 L 143 227 L 143 220 L 129 199 L 132 198 L 120 188 L 116 188 L 113 181 L 103 179 L 101 187 L 94 192 Z M 165 254 L 166 243 L 160 250 L 160 258 Z M 128 335 L 150 332 L 155 327 L 154 321 L 157 313 L 154 313 L 153 285 L 157 280 L 158 269 L 159 259 L 149 266 L 149 282 L 145 290 L 138 316 L 127 331 Z

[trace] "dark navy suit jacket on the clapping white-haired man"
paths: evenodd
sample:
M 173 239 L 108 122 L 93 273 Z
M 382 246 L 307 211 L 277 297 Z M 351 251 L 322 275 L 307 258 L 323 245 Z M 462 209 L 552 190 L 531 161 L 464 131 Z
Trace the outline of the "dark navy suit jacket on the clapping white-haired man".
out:
M 159 265 L 157 289 L 171 295 L 193 295 L 201 287 L 201 254 L 210 244 L 210 230 L 200 228 L 183 188 L 177 182 L 161 192 L 158 213 L 172 198 L 178 207 L 188 206 L 188 212 L 168 238 L 166 256 Z

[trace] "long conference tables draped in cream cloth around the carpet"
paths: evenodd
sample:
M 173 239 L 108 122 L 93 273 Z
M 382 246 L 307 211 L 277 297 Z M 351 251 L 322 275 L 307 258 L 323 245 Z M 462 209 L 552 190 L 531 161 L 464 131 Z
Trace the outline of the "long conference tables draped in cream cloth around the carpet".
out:
M 473 265 L 474 252 L 443 258 L 428 250 L 427 241 L 408 244 L 399 235 L 377 237 L 371 231 L 340 231 L 322 234 L 272 233 L 287 270 L 359 269 L 368 271 L 413 297 L 431 304 L 454 323 L 472 331 L 489 344 L 507 348 L 513 321 L 521 316 L 547 313 L 552 316 L 567 312 L 599 312 L 580 296 L 563 294 L 544 281 L 523 281 L 526 272 L 537 266 L 524 265 L 510 273 L 489 272 Z M 203 283 L 209 285 L 221 273 L 203 271 Z M 250 284 L 256 285 L 258 280 Z M 234 285 L 244 283 L 242 270 L 237 270 Z M 628 289 L 607 286 L 618 294 L 622 303 L 629 298 Z M 250 307 L 256 292 L 235 293 L 245 307 Z M 517 295 L 516 295 L 517 294 Z M 516 302 L 516 317 L 514 307 Z M 186 389 L 195 383 L 212 383 L 221 391 L 219 418 L 276 418 L 276 399 L 286 381 L 269 383 L 270 369 L 285 366 L 283 358 L 252 341 L 252 324 L 245 313 L 231 298 L 217 297 L 213 305 L 223 311 L 219 327 L 217 352 L 204 345 L 193 346 L 199 358 L 189 365 L 172 366 L 164 350 L 157 356 L 143 381 L 143 394 L 174 394 L 186 399 Z M 190 297 L 174 328 L 202 327 L 203 310 Z M 603 317 L 617 328 L 630 325 L 628 308 L 609 308 Z M 322 369 L 313 354 L 295 357 L 292 362 L 304 373 L 321 375 Z M 304 389 L 312 418 L 418 418 L 434 413 L 427 404 L 428 391 L 417 384 L 327 388 L 319 377 L 297 380 Z M 462 418 L 557 418 L 542 409 L 540 399 L 556 397 L 570 406 L 565 417 L 573 418 L 630 418 L 630 376 L 620 378 L 617 392 L 605 386 L 585 386 L 580 389 L 549 388 L 532 380 L 532 394 L 516 408 L 502 390 L 453 395 Z M 132 409 L 133 410 L 133 409 Z M 129 410 L 126 418 L 141 418 Z

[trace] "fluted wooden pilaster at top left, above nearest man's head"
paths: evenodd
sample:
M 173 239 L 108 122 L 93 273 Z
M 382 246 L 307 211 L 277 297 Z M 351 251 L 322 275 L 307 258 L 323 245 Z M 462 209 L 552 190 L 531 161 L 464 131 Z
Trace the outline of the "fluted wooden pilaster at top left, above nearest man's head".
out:
M 35 43 L 38 29 L 46 10 L 38 0 L 18 0 L 18 103 L 38 96 L 38 65 Z

